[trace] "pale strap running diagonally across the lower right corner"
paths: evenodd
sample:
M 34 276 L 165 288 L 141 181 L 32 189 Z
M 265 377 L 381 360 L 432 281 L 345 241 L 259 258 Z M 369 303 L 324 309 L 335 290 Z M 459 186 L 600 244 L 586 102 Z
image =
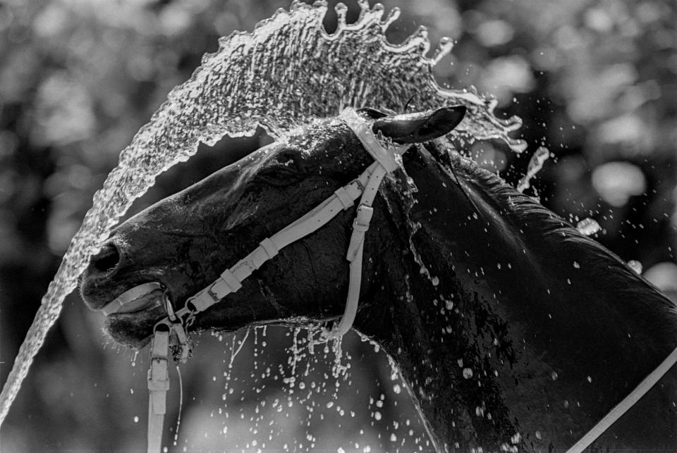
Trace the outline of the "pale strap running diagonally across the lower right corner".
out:
M 623 414 L 625 414 L 630 407 L 633 407 L 635 403 L 637 403 L 646 393 L 651 390 L 651 387 L 656 385 L 656 383 L 669 371 L 670 368 L 674 364 L 677 363 L 677 349 L 675 349 L 671 354 L 661 362 L 661 364 L 656 368 L 654 371 L 652 371 L 649 376 L 644 378 L 640 385 L 635 387 L 635 390 L 633 390 L 630 395 L 625 397 L 623 401 L 620 403 L 616 404 L 616 407 L 614 409 L 611 409 L 609 414 L 606 414 L 602 420 L 600 420 L 597 425 L 595 425 L 590 431 L 587 432 L 586 435 L 583 436 L 578 442 L 573 445 L 570 449 L 567 450 L 566 453 L 581 453 L 583 452 L 584 449 L 587 447 L 590 447 L 590 444 L 597 440 L 604 431 L 609 429 L 609 426 L 614 424 L 618 418 L 621 418 Z

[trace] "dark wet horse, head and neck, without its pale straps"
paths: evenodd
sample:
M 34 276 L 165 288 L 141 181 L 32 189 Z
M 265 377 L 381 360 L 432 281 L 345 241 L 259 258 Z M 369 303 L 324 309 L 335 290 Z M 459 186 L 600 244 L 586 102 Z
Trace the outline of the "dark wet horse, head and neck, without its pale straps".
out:
M 410 147 L 374 201 L 355 328 L 397 361 L 439 449 L 570 447 L 676 347 L 677 316 L 614 254 L 435 140 L 464 112 L 361 111 Z M 301 128 L 118 226 L 85 302 L 159 282 L 183 306 L 372 161 L 341 117 Z M 193 329 L 341 316 L 353 217 L 282 249 Z M 106 330 L 142 347 L 165 315 L 112 314 Z M 674 395 L 662 380 L 595 445 L 675 447 Z

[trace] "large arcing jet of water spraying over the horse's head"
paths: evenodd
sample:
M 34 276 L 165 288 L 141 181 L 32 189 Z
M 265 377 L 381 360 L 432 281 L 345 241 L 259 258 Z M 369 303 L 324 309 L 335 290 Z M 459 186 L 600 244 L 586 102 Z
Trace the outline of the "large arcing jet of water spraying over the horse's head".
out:
M 399 11 L 384 18 L 383 6 L 370 8 L 366 0 L 358 4 L 360 18 L 353 24 L 346 23 L 345 6 L 337 6 L 338 27 L 328 35 L 322 26 L 327 4 L 295 2 L 290 11 L 278 11 L 253 32 L 220 39 L 219 50 L 205 55 L 190 80 L 169 93 L 94 195 L 4 385 L 0 423 L 90 256 L 157 175 L 195 154 L 200 142 L 211 145 L 226 134 L 250 135 L 257 125 L 279 137 L 295 125 L 335 116 L 344 106 L 400 111 L 416 94 L 420 108 L 468 107 L 454 132 L 462 143 L 502 139 L 513 151 L 525 149 L 523 141 L 508 137 L 520 120 L 496 118 L 494 99 L 472 87 L 457 91 L 437 85 L 432 70 L 451 51 L 449 39 L 439 43 L 432 58 L 425 56 L 430 43 L 423 27 L 402 44 L 389 44 L 384 32 Z

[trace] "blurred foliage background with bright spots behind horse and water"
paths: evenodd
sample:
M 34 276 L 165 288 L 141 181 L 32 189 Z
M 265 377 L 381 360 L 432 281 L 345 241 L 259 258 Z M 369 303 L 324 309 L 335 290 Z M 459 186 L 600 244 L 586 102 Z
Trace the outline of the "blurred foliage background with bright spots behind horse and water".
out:
M 355 20 L 358 7 L 347 4 L 348 19 Z M 437 66 L 441 85 L 475 85 L 494 95 L 506 116 L 523 118 L 521 134 L 530 144 L 525 154 L 485 142 L 469 150 L 473 158 L 514 183 L 530 154 L 548 147 L 553 159 L 530 193 L 573 223 L 596 220 L 602 226 L 595 235 L 599 242 L 641 263 L 644 275 L 677 299 L 675 2 L 402 0 L 384 5 L 403 10 L 388 32 L 391 42 L 401 42 L 418 25 L 429 26 L 433 44 L 443 36 L 456 40 L 453 54 Z M 202 54 L 216 50 L 218 37 L 252 30 L 280 7 L 288 7 L 288 1 L 0 1 L 1 382 L 118 152 L 169 90 L 190 76 Z M 329 30 L 334 18 L 330 8 Z M 259 133 L 205 147 L 159 178 L 132 211 L 227 163 L 219 152 L 224 148 L 243 155 L 266 141 Z M 135 361 L 133 352 L 111 346 L 101 322 L 77 294 L 66 300 L 2 427 L 3 452 L 144 448 L 144 354 Z M 308 382 L 341 385 L 336 395 L 317 392 L 317 411 L 326 415 L 315 414 L 307 426 L 299 387 L 294 395 L 283 379 L 257 377 L 267 367 L 282 367 L 281 374 L 291 376 L 286 347 L 293 333 L 271 328 L 266 335 L 268 340 L 254 342 L 250 334 L 232 361 L 236 396 L 226 403 L 224 371 L 233 341 L 237 347 L 245 334 L 235 340 L 203 335 L 196 356 L 182 368 L 183 423 L 172 449 L 301 444 L 300 449 L 362 451 L 369 445 L 375 452 L 402 442 L 409 442 L 405 449 L 425 449 L 410 402 L 391 380 L 384 354 L 374 353 L 372 345 L 357 335 L 346 340 L 344 349 L 352 356 L 348 377 L 333 378 L 327 371 L 331 353 L 324 354 L 326 366 L 319 364 L 323 356 L 313 359 L 319 362 L 305 376 Z M 252 380 L 260 382 L 252 388 Z M 177 399 L 173 390 L 168 442 Z M 276 399 L 285 403 L 274 404 Z M 334 399 L 343 407 L 330 406 Z M 221 414 L 226 411 L 227 420 Z M 277 434 L 269 439 L 269 433 Z

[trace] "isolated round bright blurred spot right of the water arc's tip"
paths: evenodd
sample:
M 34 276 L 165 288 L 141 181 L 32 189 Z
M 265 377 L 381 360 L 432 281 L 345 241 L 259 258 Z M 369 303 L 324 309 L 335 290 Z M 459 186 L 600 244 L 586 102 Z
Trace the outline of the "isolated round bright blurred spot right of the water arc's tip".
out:
M 647 181 L 638 166 L 629 162 L 607 162 L 592 170 L 592 186 L 604 201 L 620 208 L 628 199 L 645 192 Z

